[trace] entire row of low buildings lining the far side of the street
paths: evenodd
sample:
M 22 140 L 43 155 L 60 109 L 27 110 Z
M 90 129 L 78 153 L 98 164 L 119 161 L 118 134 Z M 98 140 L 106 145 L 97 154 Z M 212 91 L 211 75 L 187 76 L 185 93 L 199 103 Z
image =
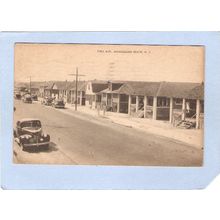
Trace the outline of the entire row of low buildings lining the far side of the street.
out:
M 196 128 L 203 127 L 203 83 L 93 80 L 79 81 L 76 89 L 75 82 L 48 82 L 41 83 L 38 95 L 174 125 L 194 121 Z

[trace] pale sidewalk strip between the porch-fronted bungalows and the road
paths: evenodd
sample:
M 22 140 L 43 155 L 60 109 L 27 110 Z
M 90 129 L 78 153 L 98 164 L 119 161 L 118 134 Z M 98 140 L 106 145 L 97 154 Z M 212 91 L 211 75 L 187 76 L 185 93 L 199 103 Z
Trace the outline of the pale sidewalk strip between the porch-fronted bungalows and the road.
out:
M 74 105 L 66 104 L 68 109 L 75 109 Z M 141 131 L 172 138 L 181 141 L 198 149 L 203 148 L 203 130 L 199 129 L 181 129 L 173 127 L 169 122 L 155 121 L 147 118 L 134 118 L 128 114 L 100 111 L 98 115 L 97 109 L 90 109 L 86 106 L 77 106 L 79 112 L 91 115 L 93 117 L 103 117 L 110 119 L 113 123 L 136 128 Z

